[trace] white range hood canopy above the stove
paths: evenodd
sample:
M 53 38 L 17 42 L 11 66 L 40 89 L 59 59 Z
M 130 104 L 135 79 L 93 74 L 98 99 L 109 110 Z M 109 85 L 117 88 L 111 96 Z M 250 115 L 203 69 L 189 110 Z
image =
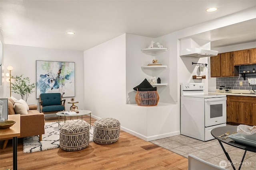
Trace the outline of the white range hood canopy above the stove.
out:
M 180 50 L 181 57 L 202 58 L 202 57 L 212 57 L 216 55 L 218 55 L 218 51 L 199 49 L 199 48 L 190 48 L 190 49 Z

